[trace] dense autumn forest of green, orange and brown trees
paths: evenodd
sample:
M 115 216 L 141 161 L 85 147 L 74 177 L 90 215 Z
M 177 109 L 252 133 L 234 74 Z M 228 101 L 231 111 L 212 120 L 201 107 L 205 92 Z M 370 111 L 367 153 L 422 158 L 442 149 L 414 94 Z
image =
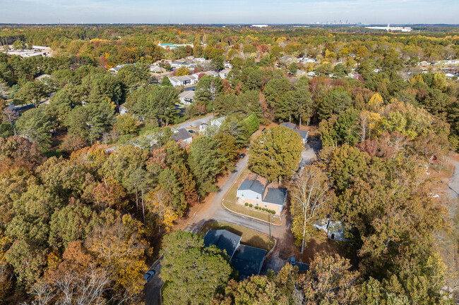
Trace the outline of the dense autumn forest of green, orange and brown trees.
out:
M 459 82 L 445 70 L 458 68 L 441 63 L 459 58 L 459 32 L 414 30 L 0 25 L 0 304 L 143 304 L 160 256 L 164 304 L 454 304 L 458 270 L 439 248 L 457 256 L 458 203 L 434 196 L 444 185 L 425 166 L 451 170 L 459 151 Z M 189 56 L 207 63 L 164 65 Z M 227 63 L 177 106 L 184 88 L 168 77 Z M 225 120 L 174 141 L 210 115 Z M 304 144 L 271 127 L 282 122 L 318 130 L 314 163 L 298 168 Z M 239 280 L 225 252 L 174 228 L 249 144 L 249 168 L 288 189 L 297 246 L 330 217 L 353 228 L 349 256 Z

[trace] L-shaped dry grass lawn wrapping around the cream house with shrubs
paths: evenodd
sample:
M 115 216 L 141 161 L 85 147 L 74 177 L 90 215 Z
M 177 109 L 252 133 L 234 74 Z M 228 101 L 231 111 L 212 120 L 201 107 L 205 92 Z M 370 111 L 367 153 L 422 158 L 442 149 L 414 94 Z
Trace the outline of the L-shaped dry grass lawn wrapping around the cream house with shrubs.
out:
M 250 173 L 249 168 L 244 168 L 242 170 L 241 175 L 239 175 L 239 178 L 237 178 L 236 182 L 234 182 L 234 185 L 232 185 L 231 189 L 226 194 L 226 197 L 223 199 L 222 204 L 229 210 L 236 212 L 236 213 L 241 213 L 246 216 L 254 217 L 260 220 L 264 220 L 267 222 L 271 222 L 275 225 L 281 225 L 282 220 L 280 220 L 279 216 L 273 216 L 273 214 L 267 213 L 267 212 L 262 212 L 262 211 L 256 211 L 255 208 L 249 208 L 246 206 L 242 206 L 241 204 L 237 204 L 237 188 L 239 185 L 241 185 L 242 181 L 246 178 L 246 176 Z

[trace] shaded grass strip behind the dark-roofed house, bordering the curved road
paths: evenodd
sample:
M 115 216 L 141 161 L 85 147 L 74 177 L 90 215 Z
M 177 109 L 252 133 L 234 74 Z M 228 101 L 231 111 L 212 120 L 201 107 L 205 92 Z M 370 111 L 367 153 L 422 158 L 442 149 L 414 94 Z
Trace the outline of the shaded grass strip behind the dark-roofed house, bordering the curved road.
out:
M 270 251 L 270 249 L 274 247 L 274 239 L 270 241 L 269 235 L 242 227 L 242 225 L 213 221 L 211 223 L 206 223 L 201 231 L 199 231 L 198 235 L 204 237 L 208 230 L 228 230 L 229 232 L 241 236 L 241 244 L 245 244 L 246 246 L 265 249 L 266 251 Z

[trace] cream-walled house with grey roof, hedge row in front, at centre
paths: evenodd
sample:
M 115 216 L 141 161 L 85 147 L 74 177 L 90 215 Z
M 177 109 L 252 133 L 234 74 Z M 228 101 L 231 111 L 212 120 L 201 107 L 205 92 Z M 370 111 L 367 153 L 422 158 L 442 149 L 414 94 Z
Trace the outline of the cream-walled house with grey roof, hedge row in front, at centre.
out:
M 236 197 L 238 204 L 247 203 L 268 208 L 279 215 L 287 199 L 287 189 L 279 187 L 276 182 L 270 183 L 260 175 L 251 173 L 237 189 Z

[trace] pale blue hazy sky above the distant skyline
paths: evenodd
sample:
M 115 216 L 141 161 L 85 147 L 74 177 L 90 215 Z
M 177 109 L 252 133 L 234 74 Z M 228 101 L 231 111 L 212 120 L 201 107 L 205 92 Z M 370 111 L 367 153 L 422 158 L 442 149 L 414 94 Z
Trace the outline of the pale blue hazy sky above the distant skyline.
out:
M 0 23 L 459 23 L 459 0 L 0 0 Z

